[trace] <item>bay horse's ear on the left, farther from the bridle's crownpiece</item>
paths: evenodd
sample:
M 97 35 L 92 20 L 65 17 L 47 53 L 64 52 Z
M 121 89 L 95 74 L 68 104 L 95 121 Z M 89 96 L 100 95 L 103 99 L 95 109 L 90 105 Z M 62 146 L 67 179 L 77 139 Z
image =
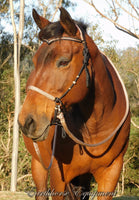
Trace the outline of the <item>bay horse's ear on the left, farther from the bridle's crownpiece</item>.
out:
M 47 26 L 47 25 L 50 23 L 47 19 L 41 17 L 41 16 L 37 13 L 37 11 L 36 11 L 35 9 L 32 10 L 32 15 L 33 15 L 33 18 L 34 18 L 34 20 L 35 20 L 37 26 L 38 26 L 40 29 L 43 29 L 45 26 Z

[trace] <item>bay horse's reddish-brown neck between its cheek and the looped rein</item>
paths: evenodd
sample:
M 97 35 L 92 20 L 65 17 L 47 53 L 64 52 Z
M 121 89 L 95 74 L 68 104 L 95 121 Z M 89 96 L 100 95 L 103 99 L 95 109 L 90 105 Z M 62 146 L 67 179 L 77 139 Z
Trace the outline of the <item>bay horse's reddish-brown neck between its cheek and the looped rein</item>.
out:
M 95 132 L 96 126 L 98 130 L 98 124 L 102 128 L 108 120 L 115 103 L 115 93 L 100 51 L 92 39 L 87 40 L 93 64 L 94 83 L 88 97 L 80 103 L 80 109 L 90 132 Z

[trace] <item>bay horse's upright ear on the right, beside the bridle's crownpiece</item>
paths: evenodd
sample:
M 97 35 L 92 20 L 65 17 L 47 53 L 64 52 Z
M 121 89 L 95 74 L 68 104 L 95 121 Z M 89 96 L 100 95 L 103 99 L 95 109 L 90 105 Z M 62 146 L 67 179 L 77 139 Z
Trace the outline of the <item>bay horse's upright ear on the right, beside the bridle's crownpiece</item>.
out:
M 76 35 L 77 27 L 70 14 L 63 8 L 60 9 L 60 24 L 68 35 Z

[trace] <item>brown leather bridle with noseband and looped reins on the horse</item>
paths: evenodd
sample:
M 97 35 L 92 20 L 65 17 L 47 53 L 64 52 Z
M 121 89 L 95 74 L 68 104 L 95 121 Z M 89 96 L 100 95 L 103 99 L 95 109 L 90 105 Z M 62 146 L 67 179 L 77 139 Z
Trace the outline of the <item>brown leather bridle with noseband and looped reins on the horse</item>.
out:
M 76 25 L 77 26 L 77 25 Z M 81 140 L 79 140 L 77 137 L 74 136 L 74 134 L 69 130 L 66 121 L 65 121 L 65 117 L 64 117 L 64 113 L 63 113 L 63 102 L 62 99 L 63 97 L 65 97 L 70 90 L 77 84 L 78 79 L 80 78 L 82 72 L 85 70 L 86 72 L 86 85 L 87 87 L 89 87 L 89 83 L 90 83 L 90 74 L 89 74 L 89 70 L 87 68 L 88 66 L 88 62 L 89 62 L 89 58 L 90 58 L 90 54 L 89 54 L 89 50 L 87 47 L 87 43 L 85 41 L 83 32 L 81 31 L 81 29 L 77 26 L 79 32 L 80 32 L 80 39 L 77 38 L 72 38 L 72 37 L 61 37 L 61 38 L 54 38 L 51 40 L 47 40 L 47 39 L 43 39 L 43 42 L 46 42 L 48 45 L 52 44 L 53 42 L 56 41 L 60 41 L 60 40 L 68 40 L 68 41 L 74 41 L 74 42 L 78 42 L 78 43 L 82 43 L 84 48 L 83 48 L 83 56 L 84 56 L 84 60 L 83 60 L 83 66 L 81 67 L 81 70 L 79 72 L 79 74 L 76 76 L 75 80 L 72 82 L 71 86 L 67 89 L 67 91 L 61 96 L 61 97 L 54 97 L 53 95 L 37 88 L 36 86 L 29 86 L 28 90 L 33 90 L 43 96 L 45 96 L 46 98 L 48 98 L 49 100 L 52 100 L 55 102 L 55 114 L 54 114 L 54 119 L 53 119 L 53 123 L 51 123 L 50 125 L 56 125 L 55 127 L 55 134 L 54 134 L 54 142 L 53 142 L 53 150 L 52 150 L 52 157 L 51 157 L 51 161 L 50 161 L 50 165 L 48 168 L 45 167 L 45 165 L 43 164 L 42 158 L 41 158 L 41 154 L 38 148 L 38 145 L 36 142 L 33 142 L 36 154 L 38 155 L 43 167 L 45 169 L 50 169 L 51 165 L 52 165 L 52 161 L 54 158 L 54 151 L 55 151 L 55 144 L 56 144 L 56 135 L 57 135 L 57 126 L 59 125 L 59 123 L 57 123 L 57 119 L 59 119 L 60 121 L 60 125 L 64 128 L 65 132 L 67 133 L 67 135 L 77 144 L 82 145 L 82 146 L 88 146 L 88 147 L 96 147 L 99 145 L 104 144 L 105 142 L 107 142 L 108 140 L 110 140 L 119 130 L 119 128 L 122 126 L 122 124 L 124 123 L 127 114 L 128 114 L 128 110 L 129 110 L 129 105 L 126 105 L 126 112 L 125 115 L 123 117 L 123 119 L 121 120 L 121 122 L 118 124 L 118 126 L 116 127 L 116 129 L 107 137 L 105 138 L 103 141 L 96 143 L 96 144 L 88 144 L 85 143 Z M 128 104 L 128 103 L 127 103 Z

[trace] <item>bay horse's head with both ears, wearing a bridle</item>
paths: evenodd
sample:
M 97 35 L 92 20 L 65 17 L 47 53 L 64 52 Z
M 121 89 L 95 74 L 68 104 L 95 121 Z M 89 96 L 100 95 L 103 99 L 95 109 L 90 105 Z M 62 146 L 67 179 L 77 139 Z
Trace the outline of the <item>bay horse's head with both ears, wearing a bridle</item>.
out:
M 60 12 L 60 21 L 51 23 L 33 10 L 43 43 L 33 57 L 35 69 L 27 81 L 19 124 L 23 133 L 36 141 L 47 137 L 55 104 L 70 109 L 87 96 L 92 84 L 85 26 L 76 23 L 64 8 Z

